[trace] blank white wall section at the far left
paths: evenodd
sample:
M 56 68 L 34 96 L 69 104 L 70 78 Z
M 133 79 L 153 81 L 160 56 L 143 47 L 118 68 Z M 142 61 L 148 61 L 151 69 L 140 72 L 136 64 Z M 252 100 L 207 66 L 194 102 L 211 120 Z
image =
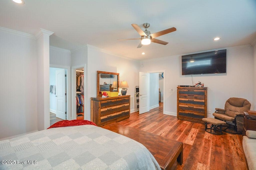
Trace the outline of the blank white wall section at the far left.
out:
M 37 130 L 37 43 L 30 37 L 0 31 L 0 139 Z

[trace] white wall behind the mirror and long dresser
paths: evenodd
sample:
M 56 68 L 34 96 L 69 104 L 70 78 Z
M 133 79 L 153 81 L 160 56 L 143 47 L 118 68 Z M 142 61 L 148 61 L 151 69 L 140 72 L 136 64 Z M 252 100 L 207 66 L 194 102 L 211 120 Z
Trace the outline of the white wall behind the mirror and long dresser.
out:
M 101 49 L 88 45 L 88 66 L 87 66 L 87 99 L 86 119 L 90 120 L 90 98 L 97 96 L 97 70 L 119 73 L 120 81 L 127 81 L 129 88 L 127 94 L 131 95 L 131 112 L 134 111 L 135 86 L 139 84 L 139 62 L 117 57 Z

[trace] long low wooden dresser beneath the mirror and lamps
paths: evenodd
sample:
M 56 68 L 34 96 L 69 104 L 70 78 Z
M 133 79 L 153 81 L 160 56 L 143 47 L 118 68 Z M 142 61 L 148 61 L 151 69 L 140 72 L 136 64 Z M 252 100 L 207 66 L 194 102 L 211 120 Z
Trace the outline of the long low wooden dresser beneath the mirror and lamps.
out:
M 98 126 L 130 117 L 130 95 L 91 98 L 91 120 Z

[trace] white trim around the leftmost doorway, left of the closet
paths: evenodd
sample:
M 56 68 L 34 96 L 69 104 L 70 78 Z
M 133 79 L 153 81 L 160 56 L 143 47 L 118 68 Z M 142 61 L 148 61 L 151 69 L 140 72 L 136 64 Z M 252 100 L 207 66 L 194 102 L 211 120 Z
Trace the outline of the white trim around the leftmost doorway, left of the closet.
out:
M 53 68 L 64 68 L 67 70 L 66 72 L 66 119 L 67 120 L 72 120 L 72 115 L 71 115 L 71 107 L 70 107 L 70 100 L 71 100 L 71 88 L 70 88 L 70 84 L 71 84 L 71 68 L 70 66 L 61 66 L 61 65 L 56 65 L 56 64 L 50 64 L 50 67 Z M 50 69 L 50 68 L 49 68 Z M 50 122 L 49 122 L 50 123 Z

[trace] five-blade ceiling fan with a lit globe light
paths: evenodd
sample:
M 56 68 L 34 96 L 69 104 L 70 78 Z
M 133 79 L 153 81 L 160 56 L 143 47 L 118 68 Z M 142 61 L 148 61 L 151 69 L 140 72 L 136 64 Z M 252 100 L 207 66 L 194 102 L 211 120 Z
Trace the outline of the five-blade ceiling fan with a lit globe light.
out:
M 161 35 L 164 34 L 168 34 L 171 33 L 173 31 L 176 31 L 175 27 L 169 28 L 169 29 L 165 29 L 163 31 L 159 31 L 156 33 L 150 33 L 150 31 L 147 30 L 147 28 L 149 27 L 149 23 L 143 23 L 143 27 L 146 29 L 145 31 L 143 31 L 139 25 L 137 25 L 136 23 L 132 24 L 132 27 L 134 27 L 134 29 L 140 34 L 140 38 L 129 38 L 129 39 L 118 39 L 118 40 L 134 40 L 134 39 L 140 39 L 140 44 L 138 45 L 137 48 L 142 47 L 142 45 L 149 45 L 151 42 L 153 43 L 158 43 L 158 44 L 162 44 L 162 45 L 166 45 L 168 44 L 168 42 L 159 40 L 159 39 L 155 39 L 156 37 L 159 37 Z

